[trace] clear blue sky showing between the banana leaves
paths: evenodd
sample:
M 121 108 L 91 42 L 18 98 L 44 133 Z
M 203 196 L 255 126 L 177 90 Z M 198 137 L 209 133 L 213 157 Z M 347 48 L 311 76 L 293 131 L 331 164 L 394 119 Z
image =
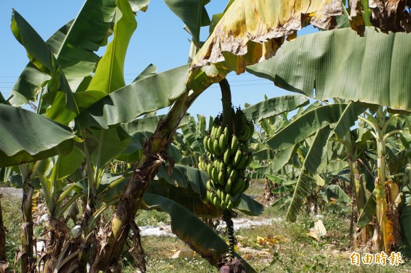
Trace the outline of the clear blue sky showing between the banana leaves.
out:
M 82 0 L 0 1 L 0 36 L 3 38 L 0 51 L 0 91 L 3 96 L 8 97 L 14 82 L 28 62 L 24 48 L 10 31 L 12 8 L 20 13 L 44 40 L 47 40 L 55 30 L 75 18 L 83 3 Z M 212 0 L 206 5 L 209 16 L 221 12 L 226 3 L 225 0 Z M 158 72 L 186 64 L 190 36 L 184 31 L 182 21 L 169 10 L 163 0 L 152 0 L 147 12 L 138 12 L 136 20 L 138 27 L 129 44 L 125 62 L 127 83 L 149 64 L 157 66 Z M 201 31 L 202 36 L 206 37 L 208 29 L 203 28 Z M 312 30 L 308 30 L 310 31 Z M 99 51 L 99 55 L 103 54 L 103 50 Z M 227 79 L 232 86 L 232 101 L 235 106 L 258 103 L 264 99 L 264 94 L 269 98 L 290 94 L 276 88 L 270 81 L 247 73 L 231 73 Z M 215 116 L 221 112 L 219 86 L 208 88 L 188 112 L 204 116 Z

